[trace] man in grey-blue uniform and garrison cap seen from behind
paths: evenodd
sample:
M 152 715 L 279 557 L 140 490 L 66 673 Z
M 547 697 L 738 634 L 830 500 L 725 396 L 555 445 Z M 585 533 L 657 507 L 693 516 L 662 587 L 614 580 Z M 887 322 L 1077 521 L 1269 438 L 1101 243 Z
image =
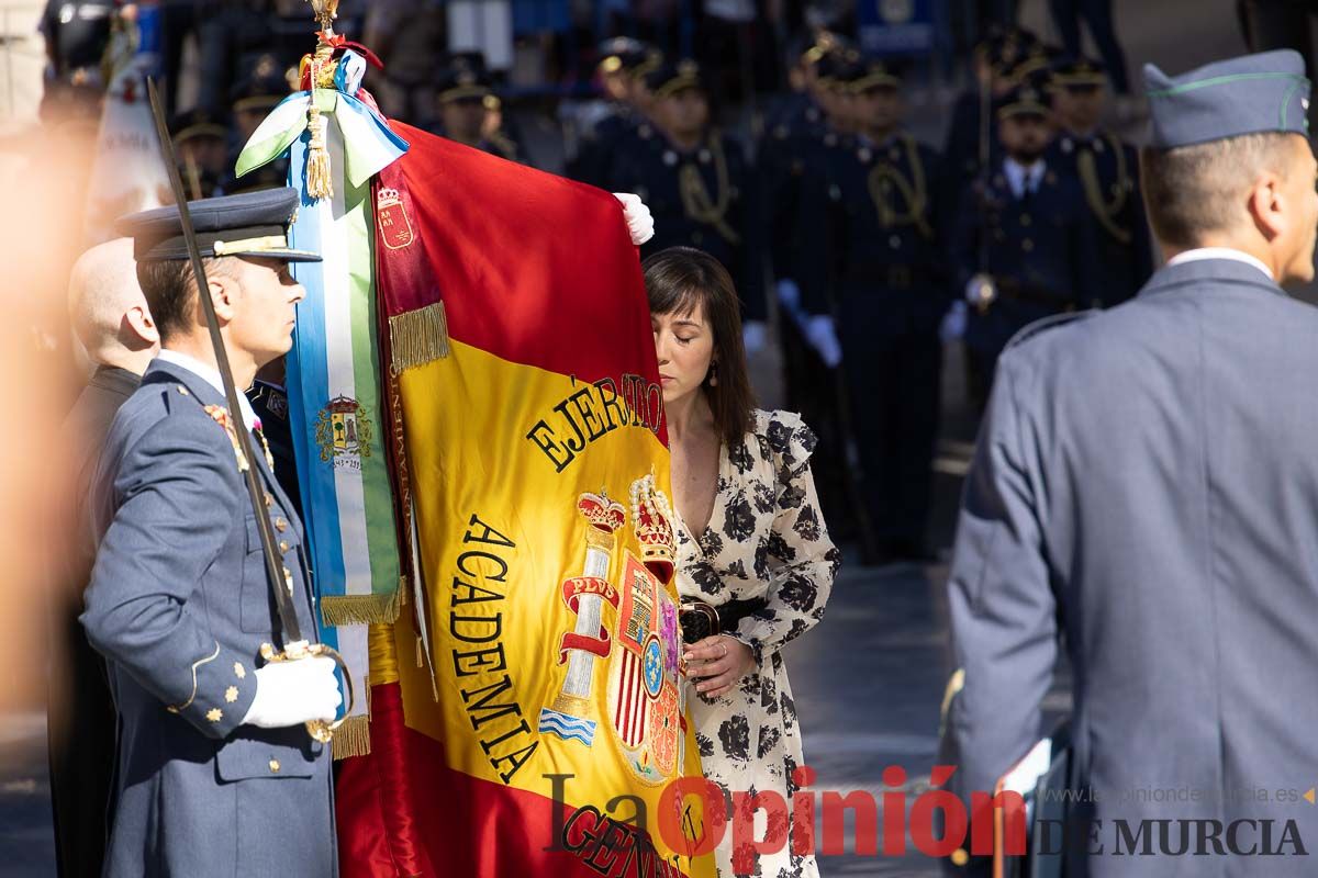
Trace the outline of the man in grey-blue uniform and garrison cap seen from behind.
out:
M 1314 276 L 1310 83 L 1289 50 L 1144 80 L 1168 263 L 998 363 L 948 584 L 950 785 L 1031 749 L 1064 642 L 1062 874 L 1311 874 L 1318 312 L 1284 290 Z

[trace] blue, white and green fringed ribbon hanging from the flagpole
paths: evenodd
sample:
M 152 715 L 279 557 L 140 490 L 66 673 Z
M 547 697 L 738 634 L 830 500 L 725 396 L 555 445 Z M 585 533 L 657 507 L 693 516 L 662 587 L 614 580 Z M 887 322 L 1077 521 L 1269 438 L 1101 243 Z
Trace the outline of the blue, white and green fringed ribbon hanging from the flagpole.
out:
M 376 336 L 374 212 L 370 179 L 407 150 L 361 91 L 365 62 L 347 50 L 335 88 L 295 92 L 257 128 L 239 157 L 241 176 L 289 153 L 302 194 L 290 246 L 322 254 L 294 275 L 307 290 L 286 362 L 289 423 L 304 509 L 323 638 L 357 679 L 370 674 L 368 625 L 391 623 L 403 599 L 399 538 L 384 428 Z M 307 111 L 327 120 L 332 191 L 314 199 L 306 168 Z M 369 752 L 369 704 L 335 736 L 335 757 Z

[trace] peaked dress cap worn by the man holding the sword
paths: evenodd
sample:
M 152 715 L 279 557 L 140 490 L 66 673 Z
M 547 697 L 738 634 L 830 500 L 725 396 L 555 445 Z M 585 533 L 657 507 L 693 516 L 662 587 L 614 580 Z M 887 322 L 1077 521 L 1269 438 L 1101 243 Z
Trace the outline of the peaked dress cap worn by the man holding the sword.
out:
M 291 187 L 225 195 L 187 203 L 203 258 L 264 257 L 285 262 L 319 262 L 308 250 L 289 246 L 289 225 L 298 209 L 298 191 Z M 178 207 L 162 207 L 121 217 L 120 234 L 133 238 L 138 262 L 187 259 L 187 241 Z

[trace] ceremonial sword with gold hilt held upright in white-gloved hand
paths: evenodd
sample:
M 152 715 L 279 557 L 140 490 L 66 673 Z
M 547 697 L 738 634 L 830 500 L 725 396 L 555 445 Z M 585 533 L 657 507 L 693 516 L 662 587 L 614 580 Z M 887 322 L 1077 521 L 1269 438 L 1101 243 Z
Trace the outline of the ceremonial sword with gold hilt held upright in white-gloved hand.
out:
M 152 99 L 152 115 L 156 117 L 156 136 L 161 145 L 161 157 L 165 159 L 165 172 L 169 175 L 170 188 L 174 191 L 174 201 L 178 204 L 179 221 L 183 225 L 183 240 L 187 242 L 187 255 L 192 263 L 192 276 L 196 278 L 196 297 L 202 300 L 202 312 L 206 315 L 206 328 L 211 334 L 211 346 L 215 348 L 215 365 L 220 370 L 220 382 L 224 384 L 224 401 L 229 412 L 235 412 L 241 420 L 243 408 L 239 403 L 239 390 L 233 383 L 233 370 L 229 366 L 229 355 L 224 349 L 224 338 L 220 336 L 220 321 L 215 316 L 215 303 L 211 301 L 210 284 L 206 280 L 206 267 L 202 265 L 202 249 L 196 242 L 196 229 L 192 228 L 192 215 L 187 208 L 187 195 L 183 192 L 183 179 L 178 172 L 178 159 L 174 155 L 174 143 L 169 136 L 169 126 L 165 124 L 165 109 L 161 104 L 159 92 L 156 90 L 156 80 L 146 79 L 146 91 Z M 298 624 L 298 612 L 293 606 L 293 578 L 274 546 L 274 529 L 270 527 L 270 516 L 265 512 L 265 491 L 261 488 L 261 477 L 257 475 L 256 455 L 252 449 L 252 434 L 246 429 L 235 428 L 233 441 L 239 446 L 239 453 L 248 466 L 243 467 L 244 483 L 246 484 L 248 499 L 252 502 L 252 511 L 256 513 L 257 530 L 261 533 L 261 554 L 265 557 L 266 579 L 270 591 L 274 592 L 274 607 L 279 617 L 279 641 L 282 652 L 275 652 L 272 644 L 261 645 L 261 657 L 268 662 L 287 662 L 315 656 L 332 658 L 343 671 L 344 686 L 348 690 L 348 708 L 343 713 L 347 719 L 352 712 L 353 687 L 352 677 L 348 674 L 348 665 L 343 656 L 327 644 L 312 644 L 303 638 L 302 627 Z M 307 720 L 307 733 L 315 740 L 328 744 L 333 737 L 333 731 L 343 724 L 343 719 L 333 723 L 323 720 Z

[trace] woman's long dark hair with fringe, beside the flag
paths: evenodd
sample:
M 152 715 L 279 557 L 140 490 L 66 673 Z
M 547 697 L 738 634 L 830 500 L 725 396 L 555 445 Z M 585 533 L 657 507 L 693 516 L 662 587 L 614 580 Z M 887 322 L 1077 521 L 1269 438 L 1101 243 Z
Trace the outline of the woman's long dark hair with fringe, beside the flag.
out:
M 699 305 L 714 330 L 710 371 L 702 390 L 714 413 L 714 428 L 729 448 L 735 448 L 751 428 L 755 395 L 746 374 L 746 348 L 741 334 L 741 301 L 731 275 L 718 259 L 695 247 L 668 247 L 641 263 L 650 296 L 650 313 L 691 315 Z

